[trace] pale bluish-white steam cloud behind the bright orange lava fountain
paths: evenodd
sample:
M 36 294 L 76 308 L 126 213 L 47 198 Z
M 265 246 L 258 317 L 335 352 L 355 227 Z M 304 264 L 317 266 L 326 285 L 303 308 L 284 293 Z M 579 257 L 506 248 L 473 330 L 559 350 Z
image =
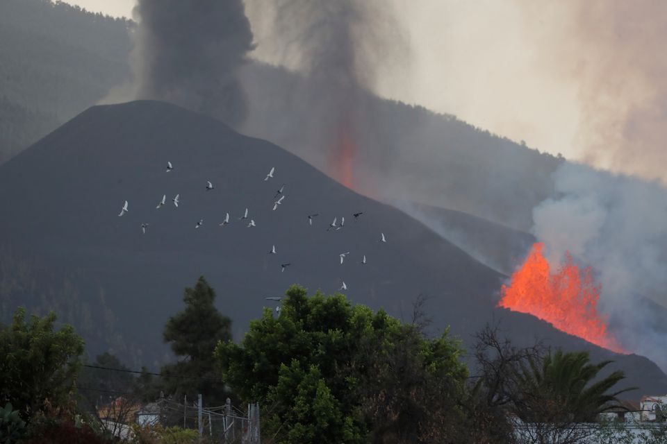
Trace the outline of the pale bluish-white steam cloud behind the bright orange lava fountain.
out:
M 562 164 L 554 180 L 558 197 L 533 212 L 547 258 L 561 262 L 569 250 L 593 266 L 616 337 L 667 368 L 667 190 L 573 163 Z

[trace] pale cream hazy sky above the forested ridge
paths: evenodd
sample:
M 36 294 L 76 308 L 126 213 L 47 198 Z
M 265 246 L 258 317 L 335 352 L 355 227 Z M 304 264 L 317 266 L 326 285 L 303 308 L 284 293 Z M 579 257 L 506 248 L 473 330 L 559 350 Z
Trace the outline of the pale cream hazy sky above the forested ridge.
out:
M 661 169 L 667 2 L 387 1 L 409 51 L 379 69 L 380 96 L 454 114 L 554 155 L 667 183 Z M 69 3 L 130 17 L 134 0 Z M 253 56 L 278 63 L 253 31 Z

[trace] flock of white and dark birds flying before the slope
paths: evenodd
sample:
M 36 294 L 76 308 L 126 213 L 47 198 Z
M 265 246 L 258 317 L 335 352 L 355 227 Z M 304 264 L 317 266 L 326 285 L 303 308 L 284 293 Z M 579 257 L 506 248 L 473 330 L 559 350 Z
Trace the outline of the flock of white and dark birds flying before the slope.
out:
M 167 161 L 167 170 L 166 170 L 166 172 L 170 173 L 171 171 L 173 171 L 173 169 L 174 169 L 174 166 L 172 165 L 172 162 Z M 273 175 L 274 175 L 275 171 L 276 171 L 275 167 L 271 167 L 270 171 L 267 173 L 266 177 L 264 178 L 264 181 L 267 181 L 269 179 L 274 178 Z M 206 181 L 206 191 L 211 191 L 213 189 L 215 189 L 215 187 L 213 187 L 213 184 L 211 183 L 210 180 L 207 180 Z M 285 189 L 285 185 L 283 184 L 276 191 L 274 199 L 277 199 L 277 200 L 274 200 L 273 211 L 276 211 L 278 209 L 279 205 L 281 205 L 283 203 L 283 200 L 285 199 L 285 194 L 283 194 L 284 189 Z M 176 196 L 174 196 L 174 198 L 172 198 L 172 203 L 174 203 L 174 207 L 179 207 L 179 196 L 180 196 L 180 194 L 176 194 Z M 161 207 L 165 206 L 166 202 L 167 202 L 167 195 L 163 194 L 162 199 L 160 200 L 160 202 L 158 202 L 158 205 L 156 206 L 156 209 L 159 210 Z M 123 216 L 124 214 L 129 212 L 128 205 L 129 205 L 128 201 L 125 200 L 124 205 L 123 205 L 122 209 L 120 210 L 120 213 L 118 214 L 119 217 Z M 352 216 L 354 217 L 354 221 L 355 222 L 359 221 L 359 218 L 361 217 L 362 214 L 363 214 L 363 212 L 357 212 L 357 213 L 352 214 Z M 315 217 L 317 217 L 317 216 L 319 216 L 318 213 L 308 214 L 307 215 L 308 224 L 313 225 L 313 219 L 315 219 Z M 243 213 L 243 215 L 238 218 L 238 220 L 242 221 L 242 220 L 246 220 L 246 219 L 249 219 L 247 208 L 245 209 L 245 212 Z M 204 224 L 204 219 L 199 219 L 199 221 L 195 225 L 195 228 L 199 228 L 203 224 Z M 227 224 L 229 224 L 229 212 L 225 213 L 223 221 L 221 223 L 219 223 L 218 225 L 224 226 L 224 225 L 227 225 Z M 142 230 L 143 234 L 146 234 L 146 230 L 149 227 L 149 225 L 150 225 L 149 223 L 142 223 L 141 224 L 141 230 Z M 247 224 L 247 228 L 252 228 L 252 227 L 256 227 L 256 223 L 255 223 L 254 219 L 249 219 L 249 222 Z M 342 216 L 340 218 L 340 223 L 338 222 L 338 217 L 336 216 L 336 217 L 334 217 L 334 221 L 331 221 L 331 223 L 329 224 L 329 227 L 327 228 L 327 231 L 329 231 L 329 230 L 341 230 L 344 227 L 345 227 L 345 216 Z M 387 241 L 387 239 L 384 235 L 384 232 L 381 232 L 379 242 L 386 243 L 386 241 Z M 271 255 L 277 254 L 276 246 L 272 245 L 271 250 L 269 250 L 269 252 L 267 254 L 271 254 Z M 345 253 L 340 253 L 340 255 L 339 255 L 340 265 L 343 265 L 343 262 L 345 262 L 345 257 L 347 257 L 347 255 L 349 255 L 349 251 L 346 251 Z M 364 264 L 364 265 L 366 264 L 366 256 L 365 255 L 363 255 L 363 258 L 361 259 L 361 264 Z M 290 262 L 280 264 L 281 273 L 283 273 L 286 270 L 286 268 L 290 265 L 292 265 Z M 343 281 L 343 284 L 340 286 L 338 291 L 347 291 L 347 284 L 345 284 L 345 281 Z M 267 300 L 280 300 L 281 298 L 266 298 L 266 299 Z M 277 309 L 277 310 L 279 310 L 279 309 Z

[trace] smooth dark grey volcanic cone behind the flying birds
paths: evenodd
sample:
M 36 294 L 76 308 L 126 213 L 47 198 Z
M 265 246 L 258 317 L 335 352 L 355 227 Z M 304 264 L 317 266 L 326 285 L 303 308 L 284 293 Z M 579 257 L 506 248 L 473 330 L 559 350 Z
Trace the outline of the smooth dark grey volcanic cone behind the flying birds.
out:
M 271 167 L 275 178 L 263 180 Z M 206 180 L 215 189 L 206 191 Z M 272 211 L 283 183 L 286 198 Z M 0 214 L 0 230 L 12 234 L 3 238 L 0 282 L 14 282 L 7 274 L 15 273 L 24 283 L 0 293 L 1 317 L 23 302 L 55 307 L 86 332 L 92 351 L 112 347 L 135 365 L 164 355 L 162 327 L 199 275 L 215 287 L 237 338 L 261 314 L 265 296 L 293 283 L 333 293 L 344 280 L 355 302 L 405 318 L 415 297 L 427 294 L 436 328 L 451 325 L 464 341 L 495 316 L 516 341 L 536 336 L 611 355 L 532 316 L 494 309 L 502 275 L 403 212 L 278 146 L 173 105 L 138 101 L 83 112 L 0 167 L 0 193 L 10 209 Z M 167 205 L 156 210 L 163 194 Z M 129 213 L 119 217 L 124 200 Z M 245 207 L 255 228 L 238 220 Z M 220 227 L 225 212 L 231 223 Z M 357 223 L 354 212 L 364 213 Z M 311 213 L 319 213 L 313 226 Z M 327 232 L 334 216 L 345 216 L 345 228 Z M 142 223 L 150 224 L 146 234 Z M 278 254 L 268 255 L 273 244 Z M 359 263 L 362 255 L 368 264 Z M 292 265 L 281 273 L 283 262 Z M 650 361 L 624 359 L 632 384 L 666 391 Z M 640 364 L 650 378 L 634 372 Z

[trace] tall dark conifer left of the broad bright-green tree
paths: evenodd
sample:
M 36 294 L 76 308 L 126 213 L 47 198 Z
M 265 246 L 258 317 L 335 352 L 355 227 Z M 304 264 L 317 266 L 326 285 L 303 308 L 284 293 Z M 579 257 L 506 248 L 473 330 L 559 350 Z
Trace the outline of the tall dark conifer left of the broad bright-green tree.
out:
M 214 301 L 215 291 L 201 276 L 194 289 L 185 289 L 185 309 L 167 321 L 163 339 L 181 359 L 161 369 L 164 375 L 179 376 L 163 378 L 165 395 L 194 400 L 201 393 L 207 404 L 227 398 L 213 351 L 219 341 L 231 341 L 231 320 L 217 311 Z

